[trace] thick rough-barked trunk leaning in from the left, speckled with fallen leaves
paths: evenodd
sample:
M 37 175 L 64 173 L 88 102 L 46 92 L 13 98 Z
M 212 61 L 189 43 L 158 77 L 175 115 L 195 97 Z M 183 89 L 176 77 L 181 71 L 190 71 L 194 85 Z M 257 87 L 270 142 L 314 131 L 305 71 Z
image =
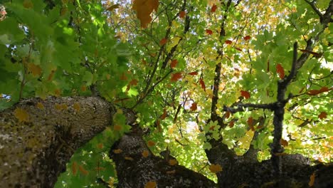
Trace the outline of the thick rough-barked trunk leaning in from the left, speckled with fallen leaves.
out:
M 113 113 L 105 100 L 83 97 L 33 98 L 1 111 L 1 187 L 53 187 L 73 152 L 110 125 Z

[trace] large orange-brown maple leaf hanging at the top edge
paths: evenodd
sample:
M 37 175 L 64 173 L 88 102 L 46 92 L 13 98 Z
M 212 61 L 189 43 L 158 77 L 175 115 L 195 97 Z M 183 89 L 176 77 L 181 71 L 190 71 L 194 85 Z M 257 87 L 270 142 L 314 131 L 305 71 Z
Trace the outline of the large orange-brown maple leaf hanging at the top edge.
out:
M 141 22 L 142 28 L 147 28 L 148 23 L 152 21 L 152 11 L 157 11 L 159 0 L 134 0 L 132 9 L 137 11 L 137 18 Z

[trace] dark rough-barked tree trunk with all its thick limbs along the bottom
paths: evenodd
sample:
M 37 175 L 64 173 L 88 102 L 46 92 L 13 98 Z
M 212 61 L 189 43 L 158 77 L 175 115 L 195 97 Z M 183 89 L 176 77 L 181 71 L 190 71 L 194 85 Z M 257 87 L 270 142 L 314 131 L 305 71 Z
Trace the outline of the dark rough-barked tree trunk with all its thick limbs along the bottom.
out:
M 1 111 L 1 187 L 53 187 L 73 152 L 111 125 L 114 113 L 112 105 L 93 97 L 33 98 Z M 308 187 L 313 173 L 314 187 L 333 187 L 332 165 L 311 167 L 301 155 L 284 155 L 282 179 L 277 179 L 270 160 L 257 162 L 252 150 L 238 157 L 221 142 L 206 151 L 211 163 L 223 167 L 215 184 L 202 174 L 152 155 L 142 130 L 134 124 L 133 113 L 125 113 L 132 132 L 110 150 L 118 187 L 144 187 L 147 182 L 157 187 Z

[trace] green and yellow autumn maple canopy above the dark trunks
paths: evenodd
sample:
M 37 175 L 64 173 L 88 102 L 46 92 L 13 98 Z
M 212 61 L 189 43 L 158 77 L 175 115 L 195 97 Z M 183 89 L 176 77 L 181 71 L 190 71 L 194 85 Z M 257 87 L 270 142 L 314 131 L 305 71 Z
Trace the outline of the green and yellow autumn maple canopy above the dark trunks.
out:
M 272 158 L 277 174 L 283 155 L 332 162 L 333 1 L 2 2 L 1 110 L 50 96 L 99 96 L 116 108 L 56 187 L 117 184 L 107 152 L 134 129 L 127 110 L 152 154 L 214 181 L 226 170 L 213 157 L 221 145 Z

